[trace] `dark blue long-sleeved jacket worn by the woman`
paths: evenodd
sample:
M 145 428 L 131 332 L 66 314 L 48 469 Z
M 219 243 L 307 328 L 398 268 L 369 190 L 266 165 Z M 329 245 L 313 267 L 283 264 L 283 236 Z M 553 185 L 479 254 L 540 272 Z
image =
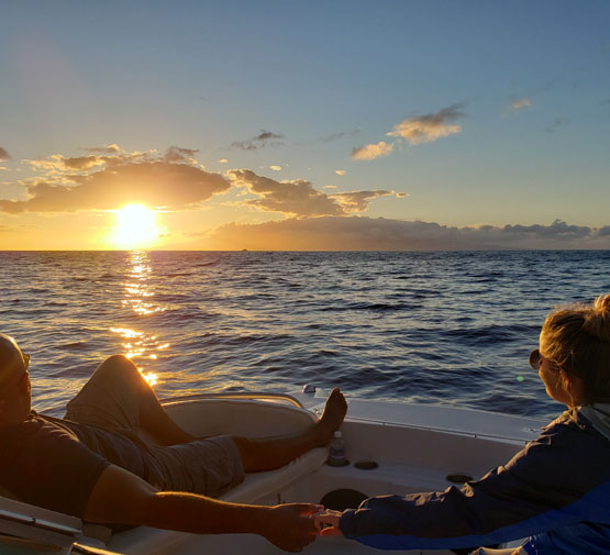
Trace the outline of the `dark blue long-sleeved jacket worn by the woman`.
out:
M 478 481 L 367 499 L 343 514 L 341 531 L 382 550 L 474 548 L 526 537 L 530 555 L 608 555 L 609 419 L 586 409 L 566 411 Z

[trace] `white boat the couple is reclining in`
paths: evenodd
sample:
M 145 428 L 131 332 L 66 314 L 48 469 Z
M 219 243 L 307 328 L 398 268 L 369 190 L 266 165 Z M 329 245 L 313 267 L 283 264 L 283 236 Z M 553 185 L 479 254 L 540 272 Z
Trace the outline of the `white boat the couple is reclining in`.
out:
M 326 391 L 308 386 L 288 393 L 202 393 L 163 401 L 171 418 L 198 435 L 264 437 L 311 425 Z M 221 499 L 275 506 L 322 503 L 342 510 L 370 496 L 440 491 L 483 476 L 537 437 L 544 422 L 465 409 L 347 398 L 341 428 L 348 464 L 330 466 L 314 448 L 273 471 L 249 474 Z M 310 555 L 379 553 L 343 537 L 318 537 Z M 137 526 L 120 533 L 79 519 L 0 497 L 0 553 L 82 555 L 200 555 L 284 553 L 252 534 L 197 535 Z M 448 551 L 409 551 L 450 555 Z M 453 555 L 453 554 L 452 554 Z

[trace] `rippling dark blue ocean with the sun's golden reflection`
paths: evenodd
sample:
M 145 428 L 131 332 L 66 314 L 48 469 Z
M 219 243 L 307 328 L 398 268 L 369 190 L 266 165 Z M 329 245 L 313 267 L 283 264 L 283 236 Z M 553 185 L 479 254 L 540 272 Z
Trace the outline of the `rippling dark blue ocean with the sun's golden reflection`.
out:
M 610 292 L 609 251 L 2 252 L 0 321 L 63 415 L 127 354 L 160 398 L 286 391 L 553 418 L 528 356 L 555 307 Z

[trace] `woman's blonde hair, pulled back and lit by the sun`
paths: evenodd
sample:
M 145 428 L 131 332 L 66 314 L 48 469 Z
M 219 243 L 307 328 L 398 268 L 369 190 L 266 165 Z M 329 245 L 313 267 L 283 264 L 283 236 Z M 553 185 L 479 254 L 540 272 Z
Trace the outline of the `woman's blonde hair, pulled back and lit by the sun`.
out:
M 544 355 L 583 380 L 585 404 L 610 402 L 610 295 L 557 309 L 544 321 Z

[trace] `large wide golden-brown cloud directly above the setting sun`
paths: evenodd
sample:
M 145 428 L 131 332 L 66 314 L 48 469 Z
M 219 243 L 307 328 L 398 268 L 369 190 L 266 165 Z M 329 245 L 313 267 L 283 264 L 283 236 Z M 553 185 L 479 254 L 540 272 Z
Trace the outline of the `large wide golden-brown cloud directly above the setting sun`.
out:
M 218 174 L 167 160 L 118 163 L 89 175 L 71 175 L 70 184 L 38 179 L 26 186 L 29 199 L 0 200 L 0 211 L 75 212 L 112 210 L 141 202 L 169 209 L 195 208 L 231 185 Z

